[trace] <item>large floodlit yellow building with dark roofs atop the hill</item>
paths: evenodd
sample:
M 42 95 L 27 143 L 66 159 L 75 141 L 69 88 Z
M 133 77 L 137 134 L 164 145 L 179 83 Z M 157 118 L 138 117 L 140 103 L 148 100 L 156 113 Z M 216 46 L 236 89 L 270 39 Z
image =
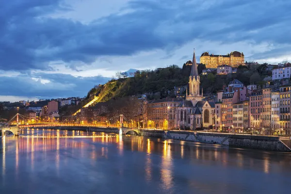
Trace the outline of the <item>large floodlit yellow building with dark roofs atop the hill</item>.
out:
M 204 52 L 200 57 L 200 63 L 205 64 L 206 68 L 217 68 L 219 65 L 238 67 L 244 65 L 244 55 L 238 51 L 233 51 L 227 55 L 214 55 Z

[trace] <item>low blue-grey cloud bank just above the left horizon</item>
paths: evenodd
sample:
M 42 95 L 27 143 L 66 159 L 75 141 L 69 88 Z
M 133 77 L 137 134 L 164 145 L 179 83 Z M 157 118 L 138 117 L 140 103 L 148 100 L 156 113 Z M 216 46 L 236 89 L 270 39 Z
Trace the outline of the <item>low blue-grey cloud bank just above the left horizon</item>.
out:
M 32 79 L 33 78 L 33 79 Z M 103 84 L 110 78 L 74 77 L 67 74 L 37 73 L 15 77 L 0 77 L 0 96 L 28 97 L 83 97 L 97 84 Z M 42 83 L 49 81 L 49 83 Z

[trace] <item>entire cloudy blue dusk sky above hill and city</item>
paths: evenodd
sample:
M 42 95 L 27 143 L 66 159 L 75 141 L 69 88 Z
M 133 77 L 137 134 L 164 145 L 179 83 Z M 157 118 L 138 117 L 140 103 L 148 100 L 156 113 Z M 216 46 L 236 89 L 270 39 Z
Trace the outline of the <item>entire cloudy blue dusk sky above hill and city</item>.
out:
M 0 100 L 83 97 L 116 71 L 200 53 L 291 59 L 289 0 L 0 1 Z

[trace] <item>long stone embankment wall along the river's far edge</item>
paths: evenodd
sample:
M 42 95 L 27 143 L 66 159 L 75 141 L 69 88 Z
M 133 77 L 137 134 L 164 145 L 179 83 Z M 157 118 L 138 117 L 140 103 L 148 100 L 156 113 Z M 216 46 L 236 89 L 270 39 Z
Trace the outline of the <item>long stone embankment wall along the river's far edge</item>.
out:
M 49 129 L 61 130 L 88 130 L 96 132 L 108 132 L 119 134 L 118 128 L 100 128 L 100 127 L 48 127 Z M 291 152 L 291 148 L 283 143 L 279 137 L 213 133 L 203 131 L 178 131 L 178 130 L 154 130 L 154 129 L 127 129 L 123 128 L 122 134 L 135 134 L 145 137 L 157 137 L 164 139 L 174 139 L 190 142 L 199 142 L 206 144 L 216 144 L 238 148 L 251 148 L 280 152 Z

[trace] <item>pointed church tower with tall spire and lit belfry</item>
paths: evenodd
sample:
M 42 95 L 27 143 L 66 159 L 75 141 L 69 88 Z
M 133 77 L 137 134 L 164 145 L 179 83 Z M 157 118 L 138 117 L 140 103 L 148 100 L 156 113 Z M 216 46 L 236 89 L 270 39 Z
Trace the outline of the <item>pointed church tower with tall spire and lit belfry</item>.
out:
M 202 101 L 202 96 L 199 94 L 199 85 L 200 77 L 198 75 L 194 50 L 191 73 L 189 76 L 189 95 L 186 97 L 187 100 L 192 101 L 193 106 L 195 106 L 198 101 Z

